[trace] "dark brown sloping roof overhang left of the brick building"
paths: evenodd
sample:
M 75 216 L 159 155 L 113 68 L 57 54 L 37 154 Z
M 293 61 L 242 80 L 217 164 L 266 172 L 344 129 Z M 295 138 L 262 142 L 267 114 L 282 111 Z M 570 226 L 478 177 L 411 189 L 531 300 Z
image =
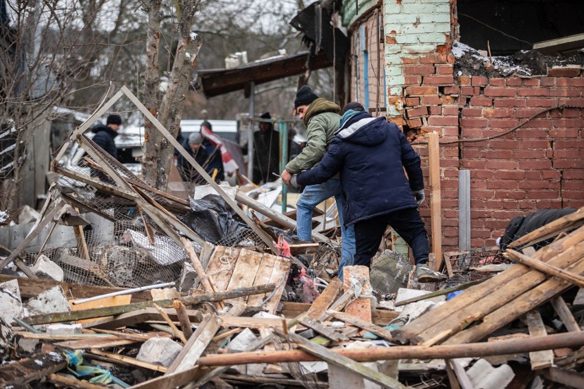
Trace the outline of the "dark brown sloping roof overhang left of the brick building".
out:
M 198 71 L 199 85 L 207 98 L 241 89 L 245 91 L 245 97 L 249 97 L 252 82 L 256 85 L 263 84 L 268 81 L 304 73 L 308 55 L 310 55 L 308 51 L 302 51 L 301 53 L 268 58 L 234 68 Z M 328 60 L 326 53 L 319 51 L 311 70 L 314 71 L 330 66 L 332 66 L 332 62 Z

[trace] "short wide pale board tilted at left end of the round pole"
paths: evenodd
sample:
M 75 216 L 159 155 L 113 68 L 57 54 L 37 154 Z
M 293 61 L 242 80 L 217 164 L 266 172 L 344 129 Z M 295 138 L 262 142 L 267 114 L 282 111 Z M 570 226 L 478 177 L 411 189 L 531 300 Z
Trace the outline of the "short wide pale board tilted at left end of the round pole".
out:
M 185 371 L 197 364 L 197 360 L 204 353 L 213 336 L 217 334 L 217 330 L 221 327 L 221 319 L 219 316 L 209 314 L 205 316 L 197 331 L 188 338 L 188 342 L 184 345 L 180 353 L 167 371 L 167 375 L 178 371 Z

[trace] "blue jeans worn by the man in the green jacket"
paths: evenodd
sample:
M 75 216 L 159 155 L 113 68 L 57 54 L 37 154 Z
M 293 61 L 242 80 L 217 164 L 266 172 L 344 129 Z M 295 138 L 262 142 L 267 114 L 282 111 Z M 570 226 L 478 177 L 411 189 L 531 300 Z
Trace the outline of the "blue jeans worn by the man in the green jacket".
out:
M 339 264 L 339 278 L 343 279 L 343 266 L 351 265 L 355 258 L 355 230 L 352 225 L 345 228 L 343 223 L 343 210 L 345 209 L 345 198 L 341 192 L 341 180 L 329 179 L 318 184 L 309 185 L 304 188 L 302 196 L 296 201 L 296 234 L 298 238 L 305 242 L 312 241 L 313 210 L 317 205 L 334 197 L 339 210 L 339 220 L 341 221 L 341 264 Z

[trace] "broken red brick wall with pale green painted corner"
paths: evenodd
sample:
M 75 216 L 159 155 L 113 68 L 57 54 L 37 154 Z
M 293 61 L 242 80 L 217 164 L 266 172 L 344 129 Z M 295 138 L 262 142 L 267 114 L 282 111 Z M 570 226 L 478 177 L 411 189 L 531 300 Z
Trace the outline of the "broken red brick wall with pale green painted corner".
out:
M 387 119 L 402 127 L 422 156 L 426 188 L 424 135 L 440 135 L 444 251 L 458 249 L 459 169 L 471 171 L 472 247 L 494 244 L 515 216 L 584 205 L 581 108 L 546 112 L 493 140 L 455 142 L 500 134 L 546 108 L 583 107 L 581 68 L 552 68 L 546 76 L 529 78 L 454 73 L 455 0 L 386 0 L 382 9 Z M 354 20 L 353 32 L 367 23 L 363 16 Z M 363 73 L 351 68 L 352 85 L 358 77 Z M 359 97 L 352 89 L 350 98 L 363 103 Z M 431 235 L 428 201 L 420 212 Z

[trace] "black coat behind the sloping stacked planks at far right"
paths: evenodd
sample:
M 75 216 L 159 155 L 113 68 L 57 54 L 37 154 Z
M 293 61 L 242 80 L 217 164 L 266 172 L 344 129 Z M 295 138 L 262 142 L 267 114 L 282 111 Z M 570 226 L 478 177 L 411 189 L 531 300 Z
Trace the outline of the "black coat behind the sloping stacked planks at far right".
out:
M 501 238 L 501 250 L 506 250 L 509 243 L 513 240 L 518 240 L 522 236 L 529 234 L 531 231 L 535 231 L 539 227 L 542 227 L 556 219 L 559 219 L 565 215 L 576 212 L 576 208 L 564 208 L 560 210 L 539 210 L 533 212 L 533 214 L 528 214 L 527 216 L 517 216 L 512 218 L 505 233 Z M 536 250 L 550 244 L 554 238 L 544 240 L 535 244 L 534 248 Z

